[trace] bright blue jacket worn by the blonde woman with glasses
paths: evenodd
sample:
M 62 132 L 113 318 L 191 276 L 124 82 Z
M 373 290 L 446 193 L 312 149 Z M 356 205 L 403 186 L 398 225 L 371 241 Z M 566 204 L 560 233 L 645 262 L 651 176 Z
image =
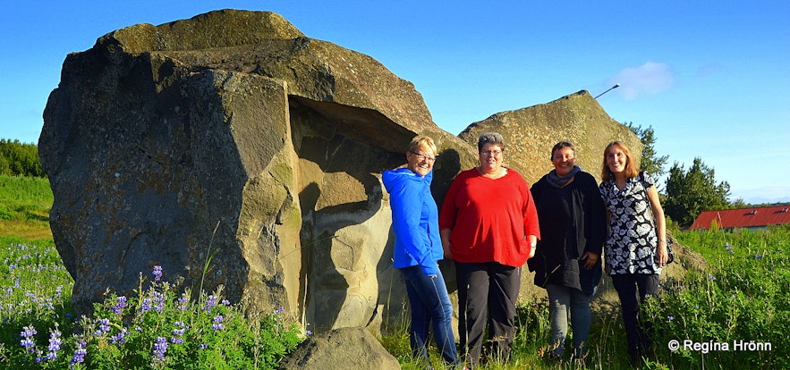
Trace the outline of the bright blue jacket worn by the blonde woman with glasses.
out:
M 420 176 L 408 168 L 382 173 L 392 208 L 392 229 L 395 231 L 395 268 L 420 265 L 422 273 L 438 273 L 437 261 L 444 258 L 439 238 L 438 210 L 430 195 L 433 171 Z

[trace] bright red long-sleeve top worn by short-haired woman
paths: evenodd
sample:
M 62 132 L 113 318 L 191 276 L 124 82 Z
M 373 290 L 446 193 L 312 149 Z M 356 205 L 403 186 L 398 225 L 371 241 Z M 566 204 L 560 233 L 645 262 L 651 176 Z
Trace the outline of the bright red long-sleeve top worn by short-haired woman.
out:
M 458 173 L 439 213 L 439 230 L 450 229 L 456 262 L 498 262 L 519 267 L 530 256 L 528 235 L 540 239 L 538 212 L 522 175 L 508 168 L 490 179 L 477 169 Z

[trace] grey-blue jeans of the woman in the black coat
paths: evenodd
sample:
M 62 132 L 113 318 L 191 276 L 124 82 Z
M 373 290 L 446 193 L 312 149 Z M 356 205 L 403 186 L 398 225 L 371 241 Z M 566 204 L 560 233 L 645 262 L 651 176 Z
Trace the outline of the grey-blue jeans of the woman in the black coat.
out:
M 573 356 L 582 358 L 587 352 L 590 333 L 590 296 L 582 290 L 557 284 L 547 284 L 548 316 L 551 321 L 551 348 L 557 357 L 563 356 L 565 336 L 568 334 L 568 314 L 573 329 Z M 556 347 L 555 347 L 556 346 Z

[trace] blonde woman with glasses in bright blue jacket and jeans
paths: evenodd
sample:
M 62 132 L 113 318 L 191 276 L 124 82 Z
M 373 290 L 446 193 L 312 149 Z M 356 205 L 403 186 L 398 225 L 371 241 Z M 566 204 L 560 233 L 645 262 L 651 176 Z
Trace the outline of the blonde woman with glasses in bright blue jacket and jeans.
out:
M 412 354 L 428 360 L 429 330 L 447 364 L 457 365 L 452 329 L 453 306 L 438 260 L 444 257 L 439 238 L 436 201 L 430 195 L 437 147 L 433 139 L 417 136 L 406 152 L 408 164 L 382 173 L 392 208 L 395 231 L 393 265 L 403 273 L 412 307 L 409 333 Z

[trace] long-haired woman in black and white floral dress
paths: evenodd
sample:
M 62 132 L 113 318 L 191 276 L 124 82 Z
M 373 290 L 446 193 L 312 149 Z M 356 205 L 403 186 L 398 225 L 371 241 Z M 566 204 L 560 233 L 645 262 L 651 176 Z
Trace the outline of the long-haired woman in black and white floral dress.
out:
M 636 168 L 624 143 L 607 146 L 602 167 L 599 189 L 609 225 L 606 271 L 620 297 L 628 354 L 636 362 L 650 349 L 650 324 L 640 320 L 640 305 L 658 297 L 658 274 L 668 260 L 664 210 L 655 181 Z

